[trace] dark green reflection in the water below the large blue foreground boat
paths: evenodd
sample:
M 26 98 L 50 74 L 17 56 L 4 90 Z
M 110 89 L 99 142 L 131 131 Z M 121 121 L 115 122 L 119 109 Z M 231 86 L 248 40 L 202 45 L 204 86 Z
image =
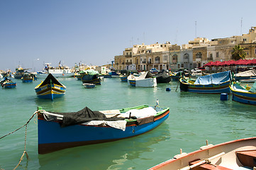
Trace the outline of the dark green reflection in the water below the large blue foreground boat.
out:
M 152 145 L 169 137 L 169 127 L 163 123 L 138 137 L 39 155 L 40 169 L 123 169 L 126 162 L 141 159 L 143 153 L 154 151 Z M 69 162 L 70 158 L 72 162 Z

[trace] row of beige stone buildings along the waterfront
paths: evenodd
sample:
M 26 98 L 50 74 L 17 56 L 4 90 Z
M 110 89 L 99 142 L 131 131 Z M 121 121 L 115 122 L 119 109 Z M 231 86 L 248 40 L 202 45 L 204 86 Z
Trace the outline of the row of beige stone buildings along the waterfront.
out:
M 194 38 L 182 47 L 169 42 L 133 45 L 123 55 L 115 56 L 115 69 L 194 69 L 212 61 L 232 60 L 235 45 L 243 47 L 245 59 L 256 59 L 256 27 L 250 28 L 248 34 L 230 38 Z

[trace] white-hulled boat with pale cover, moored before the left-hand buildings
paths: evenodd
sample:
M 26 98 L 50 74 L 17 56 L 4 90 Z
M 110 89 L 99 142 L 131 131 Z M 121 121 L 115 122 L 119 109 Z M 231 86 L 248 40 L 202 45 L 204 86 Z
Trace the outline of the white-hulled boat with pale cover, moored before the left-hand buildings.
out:
M 157 79 L 152 76 L 150 72 L 145 72 L 139 77 L 131 74 L 128 78 L 128 85 L 136 87 L 155 87 L 157 86 Z

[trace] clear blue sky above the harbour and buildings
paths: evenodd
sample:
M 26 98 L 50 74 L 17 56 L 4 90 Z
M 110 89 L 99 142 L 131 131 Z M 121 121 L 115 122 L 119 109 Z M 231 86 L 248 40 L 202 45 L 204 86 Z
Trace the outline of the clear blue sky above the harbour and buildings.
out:
M 255 6 L 255 0 L 0 0 L 0 69 L 103 65 L 143 42 L 240 35 L 256 26 Z

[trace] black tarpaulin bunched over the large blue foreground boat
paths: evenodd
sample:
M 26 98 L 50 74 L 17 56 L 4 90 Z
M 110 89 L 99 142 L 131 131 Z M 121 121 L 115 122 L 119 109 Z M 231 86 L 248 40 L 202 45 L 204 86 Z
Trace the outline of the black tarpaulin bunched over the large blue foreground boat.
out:
M 69 125 L 77 125 L 80 123 L 86 123 L 91 120 L 107 120 L 107 121 L 125 120 L 125 118 L 106 118 L 106 115 L 104 115 L 104 113 L 101 113 L 99 111 L 91 111 L 91 109 L 87 107 L 77 112 L 56 113 L 56 114 L 63 115 L 63 120 L 60 123 L 62 127 L 66 127 Z

